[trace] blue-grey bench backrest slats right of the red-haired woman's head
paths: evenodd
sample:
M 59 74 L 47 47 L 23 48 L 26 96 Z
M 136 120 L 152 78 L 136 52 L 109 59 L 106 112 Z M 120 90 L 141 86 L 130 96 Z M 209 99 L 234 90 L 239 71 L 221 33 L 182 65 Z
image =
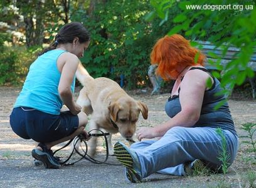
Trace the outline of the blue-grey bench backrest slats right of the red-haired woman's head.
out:
M 225 56 L 222 56 L 222 50 L 220 48 L 216 48 L 215 45 L 211 44 L 209 41 L 196 41 L 198 44 L 201 45 L 201 51 L 205 54 L 206 56 L 206 61 L 205 61 L 205 68 L 208 70 L 217 70 L 216 65 L 214 65 L 211 62 L 216 62 L 217 59 L 213 58 L 211 56 L 211 53 L 215 54 L 216 56 L 220 56 L 220 64 L 225 67 L 227 66 L 228 62 L 233 60 L 233 56 L 235 53 L 238 53 L 240 50 L 238 48 L 230 47 L 227 50 L 227 53 Z M 250 62 L 248 62 L 248 67 L 250 67 L 255 73 L 256 73 L 256 53 L 252 55 L 252 58 Z M 256 76 L 253 78 L 248 78 L 248 81 L 250 82 L 250 85 L 252 86 L 252 97 L 255 98 L 255 92 L 256 92 L 256 86 L 255 86 L 255 79 Z

